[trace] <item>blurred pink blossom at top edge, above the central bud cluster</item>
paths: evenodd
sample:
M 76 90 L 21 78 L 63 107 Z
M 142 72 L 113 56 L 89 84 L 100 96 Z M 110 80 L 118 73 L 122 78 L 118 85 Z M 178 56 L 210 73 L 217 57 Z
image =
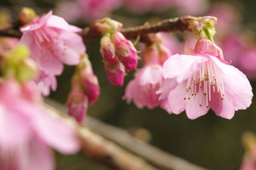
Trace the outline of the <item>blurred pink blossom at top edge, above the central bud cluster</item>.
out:
M 122 0 L 77 0 L 77 3 L 81 7 L 83 19 L 92 22 L 107 17 L 120 6 Z

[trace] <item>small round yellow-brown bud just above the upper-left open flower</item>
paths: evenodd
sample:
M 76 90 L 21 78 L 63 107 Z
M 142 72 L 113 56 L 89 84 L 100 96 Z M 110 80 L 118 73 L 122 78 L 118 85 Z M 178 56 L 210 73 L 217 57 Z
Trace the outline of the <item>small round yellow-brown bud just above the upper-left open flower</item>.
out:
M 19 13 L 19 21 L 22 25 L 28 24 L 36 17 L 36 13 L 32 8 L 24 7 Z

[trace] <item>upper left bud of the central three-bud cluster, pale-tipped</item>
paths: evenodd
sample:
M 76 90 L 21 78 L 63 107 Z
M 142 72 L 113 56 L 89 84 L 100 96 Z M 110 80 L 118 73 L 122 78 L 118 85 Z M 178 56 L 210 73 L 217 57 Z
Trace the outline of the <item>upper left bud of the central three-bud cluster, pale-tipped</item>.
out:
M 115 45 L 113 44 L 109 36 L 103 36 L 100 39 L 100 53 L 104 60 L 107 60 L 111 63 L 116 62 Z

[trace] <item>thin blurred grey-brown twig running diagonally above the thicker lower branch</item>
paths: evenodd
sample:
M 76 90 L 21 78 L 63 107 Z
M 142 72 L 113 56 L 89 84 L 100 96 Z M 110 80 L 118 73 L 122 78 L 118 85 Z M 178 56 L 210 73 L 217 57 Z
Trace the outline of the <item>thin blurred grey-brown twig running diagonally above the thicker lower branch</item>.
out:
M 56 101 L 52 101 L 51 99 L 45 99 L 45 103 L 54 106 L 58 110 L 63 113 L 67 113 L 67 107 L 63 104 L 60 104 Z M 154 167 L 159 169 L 175 169 L 175 170 L 204 170 L 203 167 L 196 166 L 184 159 L 176 157 L 170 153 L 163 152 L 158 148 L 148 145 L 148 143 L 144 143 L 134 137 L 132 137 L 127 131 L 124 129 L 114 127 L 112 125 L 104 124 L 95 118 L 90 116 L 86 116 L 86 119 L 83 124 L 84 127 L 91 129 L 96 132 L 98 135 L 103 136 L 104 138 L 108 138 L 109 140 L 117 143 L 118 145 L 125 148 L 125 150 L 129 150 L 129 154 L 135 154 L 140 156 L 141 158 L 150 162 Z M 93 136 L 90 136 L 93 138 Z M 100 145 L 105 145 L 104 141 L 99 144 L 98 147 L 103 147 Z M 119 147 L 117 145 L 112 145 L 113 148 Z M 92 148 L 97 149 L 97 148 Z M 109 154 L 117 154 L 117 153 L 109 153 Z M 123 158 L 123 153 L 118 153 L 121 155 L 113 155 L 113 157 L 121 157 Z M 132 154 L 132 155 L 133 155 Z M 95 155 L 97 157 L 97 155 Z M 130 157 L 130 156 L 129 156 Z M 97 159 L 96 159 L 97 160 Z M 113 162 L 111 162 L 113 163 Z M 121 162 L 120 162 L 121 163 Z

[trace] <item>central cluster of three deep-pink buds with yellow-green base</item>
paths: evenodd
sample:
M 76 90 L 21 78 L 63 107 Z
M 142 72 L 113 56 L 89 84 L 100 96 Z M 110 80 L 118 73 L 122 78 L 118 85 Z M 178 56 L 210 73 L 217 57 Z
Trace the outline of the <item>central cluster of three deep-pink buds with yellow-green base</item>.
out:
M 103 18 L 93 22 L 92 28 L 97 29 L 103 35 L 100 39 L 100 53 L 104 59 L 108 80 L 113 85 L 122 86 L 125 70 L 131 71 L 138 65 L 136 48 L 120 32 L 122 29 L 120 22 Z

